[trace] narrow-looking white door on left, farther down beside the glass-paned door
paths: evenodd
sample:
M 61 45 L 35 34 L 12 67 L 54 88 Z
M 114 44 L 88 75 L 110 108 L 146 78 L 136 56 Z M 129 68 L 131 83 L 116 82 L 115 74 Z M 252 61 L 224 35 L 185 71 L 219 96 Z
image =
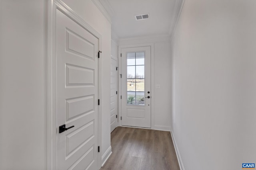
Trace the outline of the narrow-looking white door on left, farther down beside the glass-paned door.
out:
M 118 106 L 118 95 L 117 95 L 117 59 L 111 58 L 111 77 L 110 77 L 110 130 L 111 132 L 117 127 L 117 106 Z

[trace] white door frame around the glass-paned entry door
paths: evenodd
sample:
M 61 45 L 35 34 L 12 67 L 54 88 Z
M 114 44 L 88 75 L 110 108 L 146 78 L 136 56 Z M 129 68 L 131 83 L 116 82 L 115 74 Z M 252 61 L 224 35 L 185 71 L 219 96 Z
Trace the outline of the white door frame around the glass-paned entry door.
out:
M 143 44 L 132 44 L 132 45 L 120 45 L 118 46 L 118 113 L 121 115 L 122 113 L 122 104 L 121 104 L 121 78 L 120 74 L 122 74 L 122 63 L 121 63 L 121 51 L 122 48 L 133 48 L 133 47 L 147 47 L 150 46 L 151 48 L 151 129 L 155 129 L 155 76 L 154 76 L 154 43 L 143 43 Z M 124 55 L 122 56 L 124 57 Z M 118 125 L 121 125 L 121 116 L 118 116 Z M 148 128 L 147 128 L 148 129 Z

